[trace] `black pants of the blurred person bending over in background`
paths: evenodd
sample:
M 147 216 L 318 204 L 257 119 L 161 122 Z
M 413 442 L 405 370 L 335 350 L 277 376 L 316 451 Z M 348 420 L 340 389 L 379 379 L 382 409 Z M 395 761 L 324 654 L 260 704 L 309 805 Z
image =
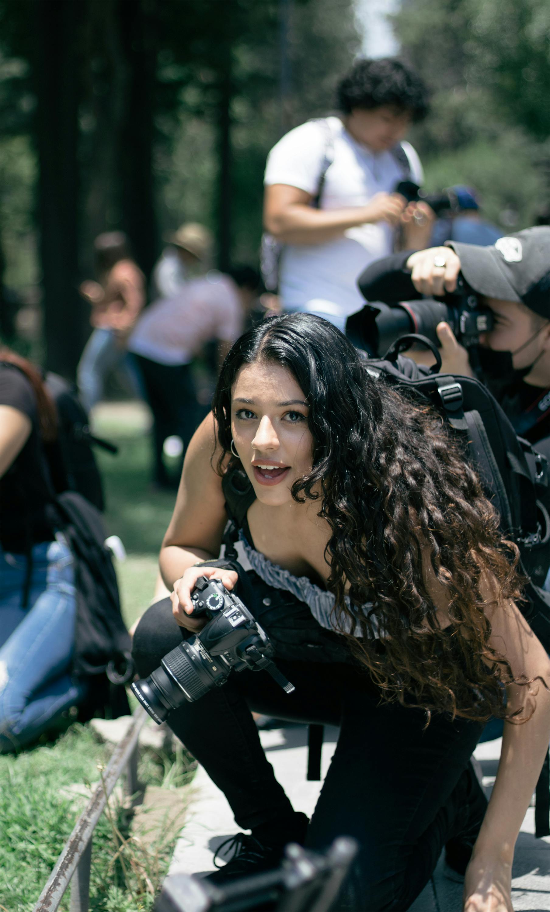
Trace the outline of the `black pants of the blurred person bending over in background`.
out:
M 197 396 L 191 367 L 181 364 L 171 367 L 135 356 L 145 384 L 147 400 L 153 415 L 154 481 L 161 485 L 174 485 L 179 481 L 183 453 L 200 420 Z M 171 479 L 163 460 L 164 440 L 171 435 L 182 438 L 183 453 L 179 471 Z

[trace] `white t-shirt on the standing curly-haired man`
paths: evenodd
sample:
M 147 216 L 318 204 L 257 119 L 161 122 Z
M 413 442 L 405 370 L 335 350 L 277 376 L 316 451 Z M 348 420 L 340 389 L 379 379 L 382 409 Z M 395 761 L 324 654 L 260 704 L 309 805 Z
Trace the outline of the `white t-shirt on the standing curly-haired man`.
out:
M 391 151 L 372 152 L 352 139 L 342 121 L 327 118 L 332 135 L 332 164 L 327 170 L 320 208 L 327 210 L 365 206 L 379 192 L 392 192 L 407 175 Z M 265 184 L 290 184 L 317 195 L 327 152 L 327 127 L 310 120 L 290 130 L 270 151 Z M 420 159 L 410 143 L 401 143 L 410 161 L 410 180 L 423 181 Z M 393 232 L 388 223 L 348 228 L 343 237 L 322 244 L 285 244 L 279 292 L 285 307 L 323 310 L 336 307 L 349 316 L 364 305 L 357 287 L 358 275 L 382 256 L 393 253 Z

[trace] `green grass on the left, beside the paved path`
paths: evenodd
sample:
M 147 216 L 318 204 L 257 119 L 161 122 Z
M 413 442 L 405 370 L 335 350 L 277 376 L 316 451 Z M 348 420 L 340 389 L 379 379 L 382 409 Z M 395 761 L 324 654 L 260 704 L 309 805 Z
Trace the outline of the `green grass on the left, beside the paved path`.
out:
M 149 439 L 139 407 L 100 407 L 94 429 L 119 445 L 118 456 L 99 452 L 99 465 L 107 530 L 120 536 L 128 552 L 117 572 L 122 610 L 130 626 L 150 603 L 175 495 L 150 490 Z M 111 750 L 94 739 L 88 726 L 76 724 L 53 744 L 0 757 L 0 910 L 34 908 L 82 810 L 67 786 L 97 782 L 98 764 L 108 762 Z M 192 762 L 185 751 L 178 756 L 141 754 L 142 782 L 174 787 L 191 777 Z M 167 870 L 177 828 L 163 829 L 147 849 L 127 841 L 128 827 L 122 807 L 113 809 L 110 822 L 106 814 L 99 820 L 92 849 L 90 912 L 145 912 L 152 907 L 151 886 L 157 889 Z M 67 891 L 60 908 L 67 910 L 68 902 Z

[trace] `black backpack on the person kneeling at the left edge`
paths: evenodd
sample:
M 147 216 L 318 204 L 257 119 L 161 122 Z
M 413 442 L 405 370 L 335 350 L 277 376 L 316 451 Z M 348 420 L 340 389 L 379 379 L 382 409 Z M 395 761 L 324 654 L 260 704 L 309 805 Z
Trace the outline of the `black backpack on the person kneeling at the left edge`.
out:
M 91 433 L 74 384 L 48 373 L 44 385 L 54 401 L 58 420 L 57 440 L 45 447 L 53 486 L 57 493 L 76 491 L 103 511 L 103 485 L 92 445 L 112 453 L 117 447 Z

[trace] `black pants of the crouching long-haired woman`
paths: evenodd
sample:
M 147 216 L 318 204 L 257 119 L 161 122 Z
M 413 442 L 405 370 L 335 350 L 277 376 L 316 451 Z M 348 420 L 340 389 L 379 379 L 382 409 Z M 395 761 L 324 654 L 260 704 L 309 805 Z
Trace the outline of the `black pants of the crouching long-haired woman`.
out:
M 276 598 L 277 590 L 271 591 Z M 313 617 L 311 623 L 318 627 Z M 157 668 L 184 636 L 169 599 L 151 606 L 134 637 L 140 675 Z M 250 710 L 339 724 L 307 845 L 323 848 L 343 834 L 358 840 L 358 863 L 338 909 L 407 909 L 430 879 L 443 845 L 468 823 L 472 790 L 479 790 L 469 760 L 483 726 L 441 713 L 425 728 L 422 710 L 380 704 L 368 676 L 351 664 L 275 660 L 296 686 L 293 694 L 286 695 L 264 671 L 233 673 L 222 688 L 174 711 L 172 731 L 225 794 L 236 823 L 254 830 L 292 808 Z

